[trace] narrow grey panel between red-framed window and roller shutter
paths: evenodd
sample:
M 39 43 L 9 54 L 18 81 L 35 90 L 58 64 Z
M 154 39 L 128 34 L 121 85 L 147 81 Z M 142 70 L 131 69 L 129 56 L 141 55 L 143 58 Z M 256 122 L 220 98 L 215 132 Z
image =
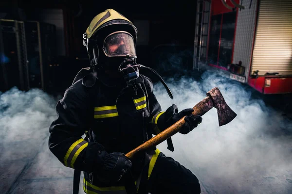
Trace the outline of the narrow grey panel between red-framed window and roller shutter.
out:
M 242 5 L 244 9 L 238 9 L 237 12 L 232 63 L 238 64 L 241 61 L 242 66 L 245 67 L 244 75 L 248 77 L 256 28 L 257 0 L 253 0 L 252 3 L 249 0 L 243 0 Z

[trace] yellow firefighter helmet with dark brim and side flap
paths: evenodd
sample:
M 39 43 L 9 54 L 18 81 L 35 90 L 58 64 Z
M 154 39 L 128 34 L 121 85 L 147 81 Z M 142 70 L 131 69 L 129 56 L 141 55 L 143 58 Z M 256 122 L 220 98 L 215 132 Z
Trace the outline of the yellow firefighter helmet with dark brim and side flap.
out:
M 95 16 L 83 34 L 83 45 L 87 47 L 91 65 L 97 65 L 101 44 L 112 32 L 124 31 L 132 35 L 134 44 L 137 42 L 137 28 L 125 16 L 113 9 L 107 9 Z

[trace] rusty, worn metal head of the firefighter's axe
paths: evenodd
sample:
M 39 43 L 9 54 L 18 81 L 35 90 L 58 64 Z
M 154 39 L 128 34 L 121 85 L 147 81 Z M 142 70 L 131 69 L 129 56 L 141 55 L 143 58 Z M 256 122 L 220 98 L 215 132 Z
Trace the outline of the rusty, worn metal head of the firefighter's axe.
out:
M 207 92 L 206 95 L 212 99 L 213 106 L 217 109 L 219 126 L 226 125 L 237 116 L 226 104 L 224 97 L 217 87 Z

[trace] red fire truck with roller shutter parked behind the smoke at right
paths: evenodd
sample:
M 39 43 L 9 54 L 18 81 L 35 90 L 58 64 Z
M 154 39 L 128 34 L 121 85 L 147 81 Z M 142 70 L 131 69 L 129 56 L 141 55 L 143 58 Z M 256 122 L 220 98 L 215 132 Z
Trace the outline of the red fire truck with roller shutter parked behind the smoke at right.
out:
M 292 93 L 292 0 L 198 0 L 196 18 L 194 69 Z

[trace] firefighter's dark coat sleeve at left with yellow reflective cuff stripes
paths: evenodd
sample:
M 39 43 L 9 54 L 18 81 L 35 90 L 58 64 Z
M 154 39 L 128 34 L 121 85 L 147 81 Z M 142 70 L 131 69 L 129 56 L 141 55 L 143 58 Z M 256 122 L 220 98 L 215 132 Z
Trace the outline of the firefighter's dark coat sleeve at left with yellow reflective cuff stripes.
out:
M 49 149 L 65 166 L 81 171 L 92 171 L 103 158 L 100 155 L 104 149 L 102 145 L 88 143 L 82 138 L 90 127 L 90 116 L 93 116 L 89 101 L 82 81 L 77 81 L 57 102 L 57 118 L 49 128 Z

